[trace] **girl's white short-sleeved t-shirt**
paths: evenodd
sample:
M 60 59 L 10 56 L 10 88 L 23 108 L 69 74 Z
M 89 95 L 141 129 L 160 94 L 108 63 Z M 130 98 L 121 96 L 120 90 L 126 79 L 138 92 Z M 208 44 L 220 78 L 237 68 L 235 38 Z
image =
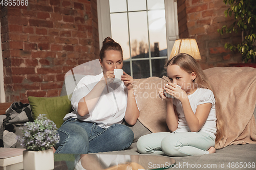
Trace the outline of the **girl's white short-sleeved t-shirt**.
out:
M 206 132 L 210 134 L 212 137 L 216 138 L 216 108 L 215 108 L 215 97 L 214 93 L 206 88 L 198 88 L 194 93 L 188 95 L 188 100 L 190 103 L 190 106 L 194 113 L 196 113 L 196 109 L 198 105 L 204 104 L 204 103 L 211 103 L 211 109 L 210 113 L 206 119 L 205 124 L 202 126 L 200 131 Z M 178 113 L 179 121 L 178 121 L 178 129 L 174 131 L 176 132 L 190 132 L 190 129 L 187 125 L 184 111 L 182 108 L 182 104 L 179 100 L 173 99 L 174 105 L 176 106 L 176 110 Z

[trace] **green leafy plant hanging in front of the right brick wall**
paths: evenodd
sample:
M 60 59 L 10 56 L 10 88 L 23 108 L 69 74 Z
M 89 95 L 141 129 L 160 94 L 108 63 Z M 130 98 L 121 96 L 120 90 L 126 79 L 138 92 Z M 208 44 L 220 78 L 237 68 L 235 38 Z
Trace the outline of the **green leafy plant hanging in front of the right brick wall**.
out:
M 242 34 L 242 42 L 226 43 L 225 48 L 242 54 L 244 63 L 255 63 L 256 55 L 256 1 L 252 0 L 223 0 L 230 7 L 225 11 L 225 17 L 233 16 L 235 21 L 231 26 L 223 26 L 218 32 Z M 248 65 L 248 64 L 247 64 Z

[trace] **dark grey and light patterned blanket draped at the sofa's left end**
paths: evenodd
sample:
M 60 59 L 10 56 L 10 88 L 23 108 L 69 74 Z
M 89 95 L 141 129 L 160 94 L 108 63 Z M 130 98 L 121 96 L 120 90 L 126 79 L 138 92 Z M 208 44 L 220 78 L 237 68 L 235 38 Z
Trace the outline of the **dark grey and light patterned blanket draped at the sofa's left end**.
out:
M 28 121 L 33 121 L 29 104 L 15 102 L 0 115 L 0 147 L 15 148 L 17 138 L 13 133 L 16 126 L 22 126 Z

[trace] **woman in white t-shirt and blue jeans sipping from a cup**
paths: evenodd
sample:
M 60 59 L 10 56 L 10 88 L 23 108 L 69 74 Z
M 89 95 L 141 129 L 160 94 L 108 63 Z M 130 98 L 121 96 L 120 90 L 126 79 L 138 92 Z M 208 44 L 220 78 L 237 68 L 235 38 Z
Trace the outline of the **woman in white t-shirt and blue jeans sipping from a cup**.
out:
M 123 71 L 121 83 L 113 83 L 114 69 L 121 69 L 121 46 L 110 37 L 100 50 L 103 72 L 86 76 L 77 84 L 71 98 L 73 112 L 58 129 L 60 136 L 55 153 L 87 154 L 124 150 L 133 142 L 132 130 L 121 125 L 134 125 L 139 117 L 133 78 Z

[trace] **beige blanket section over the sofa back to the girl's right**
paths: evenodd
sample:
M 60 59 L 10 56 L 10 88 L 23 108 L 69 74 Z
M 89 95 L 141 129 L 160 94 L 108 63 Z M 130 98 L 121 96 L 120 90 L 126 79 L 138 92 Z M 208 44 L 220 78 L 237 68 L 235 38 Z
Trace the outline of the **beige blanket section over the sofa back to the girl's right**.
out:
M 253 111 L 256 104 L 256 69 L 252 67 L 214 67 L 204 70 L 220 102 L 224 138 L 221 149 L 231 144 L 256 143 Z

